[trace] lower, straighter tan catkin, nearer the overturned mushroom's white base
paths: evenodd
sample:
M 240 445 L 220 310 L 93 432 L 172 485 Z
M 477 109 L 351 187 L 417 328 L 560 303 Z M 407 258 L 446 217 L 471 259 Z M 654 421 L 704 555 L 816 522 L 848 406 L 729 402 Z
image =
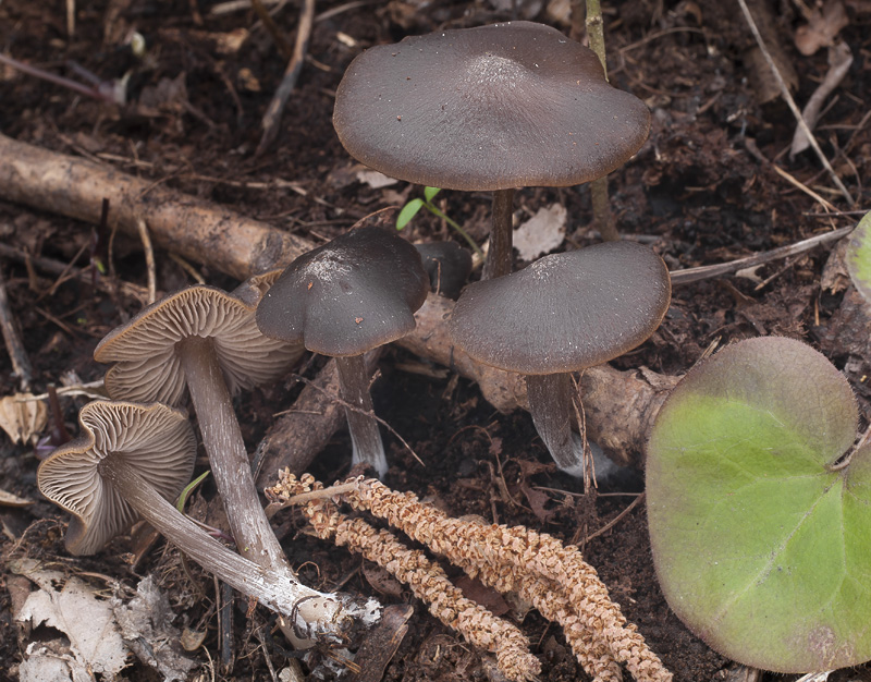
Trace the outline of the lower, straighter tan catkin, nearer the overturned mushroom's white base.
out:
M 322 485 L 308 474 L 297 480 L 290 473 L 283 473 L 279 485 L 268 489 L 267 495 L 281 501 L 319 488 Z M 347 517 L 328 499 L 307 502 L 305 513 L 318 537 L 333 539 L 338 546 L 346 546 L 383 567 L 428 604 L 430 612 L 441 622 L 459 632 L 474 646 L 495 654 L 499 669 L 508 680 L 527 682 L 541 672 L 541 663 L 529 653 L 524 634 L 464 597 L 441 567 L 422 551 L 408 549 L 392 533 L 375 528 L 363 519 Z

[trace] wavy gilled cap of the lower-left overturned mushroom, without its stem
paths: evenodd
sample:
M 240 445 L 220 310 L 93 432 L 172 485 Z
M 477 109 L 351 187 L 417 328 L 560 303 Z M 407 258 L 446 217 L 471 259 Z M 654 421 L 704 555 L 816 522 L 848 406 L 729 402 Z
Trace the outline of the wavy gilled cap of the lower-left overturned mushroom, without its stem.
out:
M 138 516 L 102 480 L 100 462 L 110 454 L 124 458 L 162 497 L 174 500 L 191 480 L 197 443 L 187 415 L 160 403 L 95 401 L 82 407 L 78 423 L 78 438 L 39 465 L 37 485 L 73 514 L 66 548 L 93 555 Z

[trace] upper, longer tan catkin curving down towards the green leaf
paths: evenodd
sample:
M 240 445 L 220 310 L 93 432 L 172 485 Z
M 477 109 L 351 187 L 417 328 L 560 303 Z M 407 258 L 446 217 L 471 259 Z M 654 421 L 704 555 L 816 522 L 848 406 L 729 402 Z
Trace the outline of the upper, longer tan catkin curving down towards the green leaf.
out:
M 452 519 L 420 502 L 415 495 L 395 492 L 376 479 L 360 479 L 359 487 L 342 498 L 352 507 L 384 519 L 470 574 L 482 579 L 487 575 L 484 582 L 496 589 L 519 590 L 518 577 L 529 572 L 553 581 L 564 590 L 585 636 L 590 636 L 593 644 L 604 643 L 638 682 L 672 680 L 641 634 L 626 623 L 596 569 L 584 561 L 577 547 L 566 547 L 551 535 L 523 526 Z M 597 649 L 591 655 L 598 659 L 601 651 Z

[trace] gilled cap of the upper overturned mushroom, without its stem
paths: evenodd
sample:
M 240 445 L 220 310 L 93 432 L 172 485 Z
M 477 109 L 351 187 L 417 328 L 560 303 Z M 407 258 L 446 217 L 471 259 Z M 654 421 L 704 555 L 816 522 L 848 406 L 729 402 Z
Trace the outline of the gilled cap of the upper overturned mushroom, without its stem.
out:
M 115 363 L 106 374 L 106 390 L 118 400 L 177 405 L 185 378 L 175 345 L 188 337 L 212 339 L 231 394 L 282 376 L 303 348 L 269 339 L 257 329 L 256 306 L 273 277 L 242 284 L 238 295 L 196 285 L 149 305 L 109 332 L 94 351 L 97 362 Z

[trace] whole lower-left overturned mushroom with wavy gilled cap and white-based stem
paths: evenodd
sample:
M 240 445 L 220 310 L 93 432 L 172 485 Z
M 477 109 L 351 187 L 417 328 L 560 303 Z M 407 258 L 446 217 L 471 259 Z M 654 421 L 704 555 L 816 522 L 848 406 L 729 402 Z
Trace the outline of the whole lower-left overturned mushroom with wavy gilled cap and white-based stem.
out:
M 196 440 L 187 415 L 160 403 L 96 401 L 78 415 L 82 434 L 37 473 L 39 490 L 73 514 L 66 548 L 99 551 L 142 516 L 194 561 L 241 593 L 292 619 L 300 632 L 335 635 L 363 610 L 267 571 L 210 537 L 168 501 L 191 478 Z M 375 614 L 375 611 L 371 611 Z

